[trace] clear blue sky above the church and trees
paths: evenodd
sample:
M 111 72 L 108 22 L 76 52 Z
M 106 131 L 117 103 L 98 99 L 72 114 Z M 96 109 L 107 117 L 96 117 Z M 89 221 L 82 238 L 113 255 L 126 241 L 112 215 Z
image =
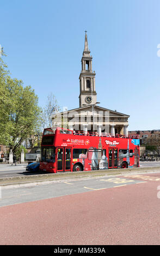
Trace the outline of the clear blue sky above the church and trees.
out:
M 79 107 L 87 29 L 100 106 L 130 115 L 128 130 L 160 129 L 159 10 L 158 0 L 1 0 L 4 61 L 41 107 L 50 92 Z

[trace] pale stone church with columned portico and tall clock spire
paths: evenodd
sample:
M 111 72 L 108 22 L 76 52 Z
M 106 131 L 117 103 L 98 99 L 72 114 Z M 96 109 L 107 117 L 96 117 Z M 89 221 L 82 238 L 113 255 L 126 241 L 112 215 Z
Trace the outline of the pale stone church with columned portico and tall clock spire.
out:
M 100 107 L 97 102 L 95 86 L 95 71 L 93 71 L 93 57 L 88 47 L 87 31 L 85 31 L 84 51 L 81 59 L 82 70 L 79 75 L 79 107 L 52 115 L 52 126 L 61 126 L 71 130 L 84 132 L 107 132 L 128 135 L 128 118 L 108 108 Z

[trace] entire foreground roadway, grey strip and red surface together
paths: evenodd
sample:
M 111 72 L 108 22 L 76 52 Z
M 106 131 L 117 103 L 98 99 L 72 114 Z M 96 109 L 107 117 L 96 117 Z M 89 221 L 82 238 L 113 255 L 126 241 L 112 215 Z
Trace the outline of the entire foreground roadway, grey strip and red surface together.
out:
M 2 190 L 1 245 L 159 245 L 160 173 Z

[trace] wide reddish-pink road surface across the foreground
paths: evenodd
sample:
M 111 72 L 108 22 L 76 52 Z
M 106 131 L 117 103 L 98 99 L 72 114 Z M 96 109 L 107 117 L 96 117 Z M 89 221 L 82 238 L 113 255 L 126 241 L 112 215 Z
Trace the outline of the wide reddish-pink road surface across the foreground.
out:
M 158 185 L 150 180 L 1 207 L 0 244 L 159 245 Z

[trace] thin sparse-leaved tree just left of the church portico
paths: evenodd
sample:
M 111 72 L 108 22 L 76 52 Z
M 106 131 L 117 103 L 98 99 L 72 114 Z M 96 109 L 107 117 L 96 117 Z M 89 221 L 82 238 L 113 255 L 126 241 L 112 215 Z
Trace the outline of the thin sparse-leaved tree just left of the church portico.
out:
M 60 107 L 56 100 L 56 97 L 52 92 L 47 96 L 47 103 L 42 111 L 42 127 L 52 127 L 52 115 L 57 114 L 60 111 Z

